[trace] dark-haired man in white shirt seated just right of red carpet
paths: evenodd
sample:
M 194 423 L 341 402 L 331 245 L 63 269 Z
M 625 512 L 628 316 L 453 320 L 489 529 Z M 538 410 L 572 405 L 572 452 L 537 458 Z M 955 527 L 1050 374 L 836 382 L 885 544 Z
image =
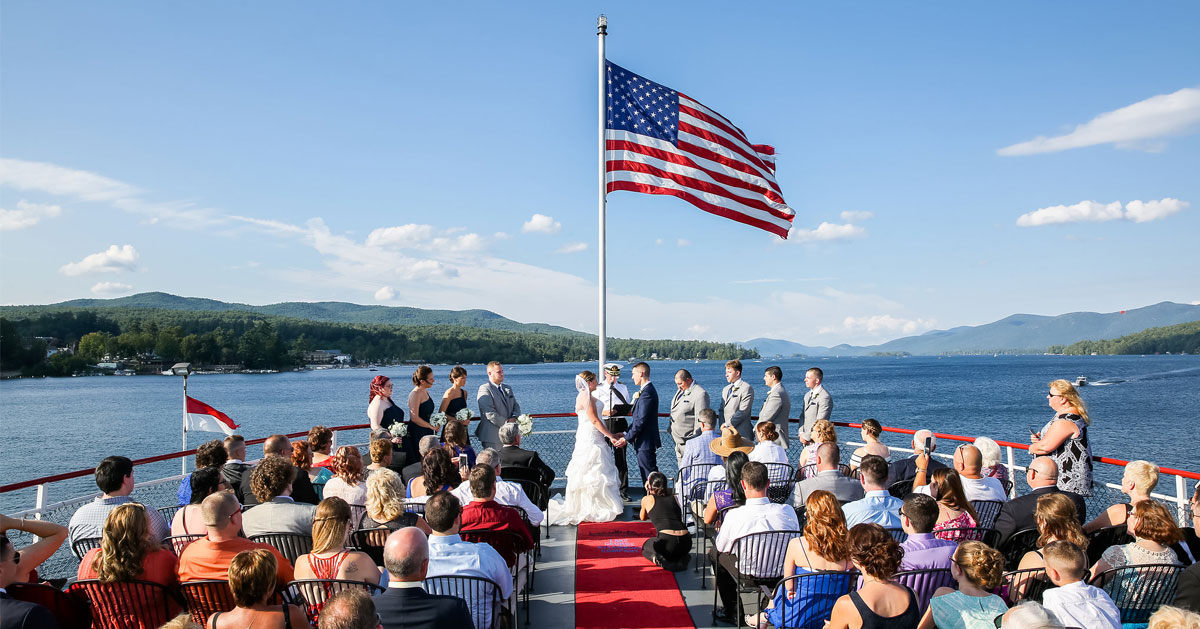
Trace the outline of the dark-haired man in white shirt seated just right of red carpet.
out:
M 739 558 L 731 555 L 734 543 L 751 533 L 768 531 L 797 531 L 800 523 L 796 520 L 796 510 L 788 504 L 775 504 L 767 499 L 767 466 L 750 461 L 742 467 L 742 491 L 746 495 L 744 507 L 730 510 L 725 523 L 716 534 L 716 541 L 709 552 L 716 571 L 716 591 L 721 597 L 724 609 L 714 610 L 718 619 L 739 623 L 737 618 L 738 585 L 734 571 L 745 573 L 746 563 L 739 564 Z M 748 558 L 742 557 L 740 561 Z M 778 568 L 772 568 L 778 569 Z

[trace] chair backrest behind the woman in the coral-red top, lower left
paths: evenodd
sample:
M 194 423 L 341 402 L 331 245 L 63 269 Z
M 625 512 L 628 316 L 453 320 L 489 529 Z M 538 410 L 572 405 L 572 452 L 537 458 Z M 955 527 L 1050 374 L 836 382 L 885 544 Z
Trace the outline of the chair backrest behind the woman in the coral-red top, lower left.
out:
M 180 605 L 166 587 L 150 581 L 76 581 L 67 589 L 86 599 L 95 629 L 155 629 L 175 617 Z

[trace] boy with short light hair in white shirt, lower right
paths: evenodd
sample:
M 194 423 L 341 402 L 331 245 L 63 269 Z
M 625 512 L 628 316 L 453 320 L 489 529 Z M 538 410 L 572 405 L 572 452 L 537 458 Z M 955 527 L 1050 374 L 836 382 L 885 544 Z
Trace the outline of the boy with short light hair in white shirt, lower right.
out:
M 1121 629 L 1121 611 L 1109 593 L 1084 582 L 1087 552 L 1070 541 L 1051 541 L 1043 551 L 1046 576 L 1057 587 L 1045 591 L 1042 604 L 1070 627 Z

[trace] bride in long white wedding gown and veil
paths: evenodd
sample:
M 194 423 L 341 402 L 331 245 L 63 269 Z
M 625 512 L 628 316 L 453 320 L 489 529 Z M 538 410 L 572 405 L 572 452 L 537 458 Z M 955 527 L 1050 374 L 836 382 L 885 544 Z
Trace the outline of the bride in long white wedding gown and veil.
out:
M 577 525 L 580 522 L 611 522 L 624 513 L 617 483 L 617 466 L 605 445 L 607 438 L 618 448 L 625 443 L 624 435 L 613 435 L 600 420 L 600 401 L 592 399 L 596 388 L 596 375 L 584 371 L 575 377 L 575 414 L 580 427 L 575 432 L 575 451 L 566 466 L 566 497 L 550 502 L 547 516 L 551 525 Z

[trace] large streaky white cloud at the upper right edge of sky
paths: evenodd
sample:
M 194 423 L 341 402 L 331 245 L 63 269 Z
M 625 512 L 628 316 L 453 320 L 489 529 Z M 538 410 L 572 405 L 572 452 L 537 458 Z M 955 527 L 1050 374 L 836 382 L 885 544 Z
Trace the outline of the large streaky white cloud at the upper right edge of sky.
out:
M 1196 122 L 1200 122 L 1200 88 L 1184 88 L 1105 112 L 1078 125 L 1070 133 L 1049 138 L 1038 136 L 998 149 L 996 154 L 1036 155 L 1109 143 L 1118 149 L 1146 149 L 1147 140 L 1187 133 Z

